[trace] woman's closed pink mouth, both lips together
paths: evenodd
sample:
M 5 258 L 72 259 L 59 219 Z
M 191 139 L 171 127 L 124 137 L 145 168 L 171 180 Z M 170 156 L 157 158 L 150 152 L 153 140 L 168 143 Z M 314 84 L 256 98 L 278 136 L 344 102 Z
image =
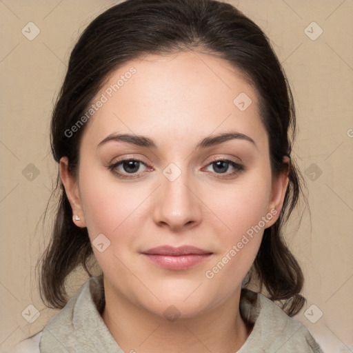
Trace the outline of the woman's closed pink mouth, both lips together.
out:
M 213 253 L 189 245 L 178 248 L 163 245 L 141 252 L 141 254 L 148 261 L 154 263 L 154 265 L 158 265 L 166 270 L 186 270 L 210 259 Z

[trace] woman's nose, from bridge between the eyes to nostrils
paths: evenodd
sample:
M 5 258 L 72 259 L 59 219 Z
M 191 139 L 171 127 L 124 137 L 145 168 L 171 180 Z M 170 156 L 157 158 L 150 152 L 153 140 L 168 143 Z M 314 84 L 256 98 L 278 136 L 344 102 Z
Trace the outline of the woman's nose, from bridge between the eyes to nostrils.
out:
M 160 227 L 180 231 L 194 228 L 201 222 L 202 202 L 196 196 L 186 173 L 170 181 L 161 175 L 161 186 L 155 199 L 153 219 Z

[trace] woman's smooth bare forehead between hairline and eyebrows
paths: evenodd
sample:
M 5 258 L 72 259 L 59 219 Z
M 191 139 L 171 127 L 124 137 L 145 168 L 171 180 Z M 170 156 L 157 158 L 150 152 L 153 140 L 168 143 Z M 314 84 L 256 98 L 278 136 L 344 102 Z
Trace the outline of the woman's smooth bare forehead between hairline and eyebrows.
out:
M 92 103 L 99 100 L 84 134 L 90 141 L 112 132 L 183 141 L 236 130 L 266 142 L 250 83 L 228 61 L 199 52 L 129 61 L 110 74 Z

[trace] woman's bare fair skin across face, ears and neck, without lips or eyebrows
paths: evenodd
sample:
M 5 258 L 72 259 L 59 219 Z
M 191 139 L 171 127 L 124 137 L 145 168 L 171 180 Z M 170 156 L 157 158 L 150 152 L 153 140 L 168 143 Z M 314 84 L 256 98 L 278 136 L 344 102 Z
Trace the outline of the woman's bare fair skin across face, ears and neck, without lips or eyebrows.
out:
M 239 313 L 241 282 L 263 235 L 282 208 L 286 173 L 272 178 L 268 134 L 259 117 L 256 92 L 227 61 L 196 52 L 148 55 L 112 72 L 97 97 L 129 70 L 137 72 L 85 126 L 79 172 L 60 174 L 74 221 L 87 227 L 91 241 L 104 234 L 110 246 L 93 247 L 104 274 L 103 321 L 124 352 L 234 353 L 252 327 Z M 241 111 L 233 100 L 245 92 L 252 104 Z M 205 137 L 238 132 L 231 139 L 196 149 Z M 123 141 L 99 143 L 110 134 L 143 135 L 156 148 Z M 121 159 L 139 159 L 133 179 L 109 169 Z M 212 164 L 232 160 L 225 173 Z M 163 170 L 174 163 L 180 176 Z M 123 165 L 115 168 L 125 175 Z M 128 174 L 131 175 L 131 174 Z M 221 261 L 261 217 L 276 215 L 212 279 L 207 270 Z M 159 245 L 193 245 L 212 256 L 187 270 L 166 270 L 145 259 Z M 172 322 L 163 312 L 174 305 Z

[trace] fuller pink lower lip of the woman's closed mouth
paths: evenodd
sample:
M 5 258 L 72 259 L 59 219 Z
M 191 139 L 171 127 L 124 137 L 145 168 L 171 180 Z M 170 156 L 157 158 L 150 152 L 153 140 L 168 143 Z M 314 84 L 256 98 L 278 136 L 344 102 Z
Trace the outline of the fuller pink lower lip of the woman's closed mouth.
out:
M 190 254 L 180 256 L 143 254 L 152 263 L 167 270 L 186 270 L 192 266 L 202 263 L 210 258 L 212 254 Z

